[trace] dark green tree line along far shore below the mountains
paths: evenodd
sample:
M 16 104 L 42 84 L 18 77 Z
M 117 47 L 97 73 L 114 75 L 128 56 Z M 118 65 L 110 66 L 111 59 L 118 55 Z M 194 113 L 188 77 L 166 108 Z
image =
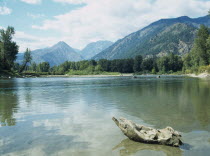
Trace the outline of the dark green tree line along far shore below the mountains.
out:
M 27 66 L 28 72 L 49 72 L 50 74 L 71 74 L 80 71 L 85 74 L 100 74 L 101 72 L 119 73 L 173 73 L 182 70 L 182 59 L 171 53 L 164 57 L 145 58 L 141 55 L 130 59 L 83 60 L 78 62 L 66 61 L 58 66 L 50 67 L 48 62 L 32 63 Z M 18 69 L 17 69 L 18 70 Z

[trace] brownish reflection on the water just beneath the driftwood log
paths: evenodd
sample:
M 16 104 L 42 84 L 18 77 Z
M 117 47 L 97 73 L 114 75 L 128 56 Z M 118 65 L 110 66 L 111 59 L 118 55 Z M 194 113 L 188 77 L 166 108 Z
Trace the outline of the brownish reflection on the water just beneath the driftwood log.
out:
M 119 150 L 120 156 L 131 156 L 143 150 L 150 151 L 162 151 L 167 156 L 181 156 L 183 151 L 177 147 L 170 147 L 164 145 L 155 144 L 144 144 L 139 142 L 134 142 L 130 139 L 124 139 L 118 145 L 116 145 L 112 150 Z

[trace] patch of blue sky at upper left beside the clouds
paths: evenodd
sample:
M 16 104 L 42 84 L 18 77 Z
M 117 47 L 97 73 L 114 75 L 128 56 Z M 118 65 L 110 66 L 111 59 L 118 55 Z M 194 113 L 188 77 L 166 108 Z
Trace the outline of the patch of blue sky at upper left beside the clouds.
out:
M 0 16 L 0 25 L 7 27 L 14 26 L 16 30 L 25 31 L 32 35 L 50 35 L 50 31 L 33 29 L 32 25 L 41 25 L 45 19 L 53 19 L 54 16 L 64 14 L 83 5 L 64 5 L 54 3 L 51 0 L 43 0 L 41 3 L 30 4 L 21 0 L 0 0 L 1 6 L 12 9 L 7 16 Z M 56 33 L 56 32 L 53 32 Z M 59 34 L 56 34 L 59 35 Z

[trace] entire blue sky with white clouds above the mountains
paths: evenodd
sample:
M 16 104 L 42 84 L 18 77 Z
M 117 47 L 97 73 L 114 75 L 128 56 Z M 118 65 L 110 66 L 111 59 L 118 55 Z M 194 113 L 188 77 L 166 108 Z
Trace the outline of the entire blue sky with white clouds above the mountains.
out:
M 19 51 L 65 41 L 82 49 L 117 41 L 163 18 L 207 15 L 210 0 L 0 0 L 0 28 L 13 26 Z

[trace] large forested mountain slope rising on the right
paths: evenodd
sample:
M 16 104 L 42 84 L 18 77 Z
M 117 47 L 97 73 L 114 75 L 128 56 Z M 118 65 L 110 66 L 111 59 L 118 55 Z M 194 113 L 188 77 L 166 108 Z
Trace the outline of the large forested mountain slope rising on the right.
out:
M 182 55 L 190 51 L 200 24 L 210 26 L 210 17 L 161 19 L 118 40 L 93 59 L 121 59 L 169 52 Z

